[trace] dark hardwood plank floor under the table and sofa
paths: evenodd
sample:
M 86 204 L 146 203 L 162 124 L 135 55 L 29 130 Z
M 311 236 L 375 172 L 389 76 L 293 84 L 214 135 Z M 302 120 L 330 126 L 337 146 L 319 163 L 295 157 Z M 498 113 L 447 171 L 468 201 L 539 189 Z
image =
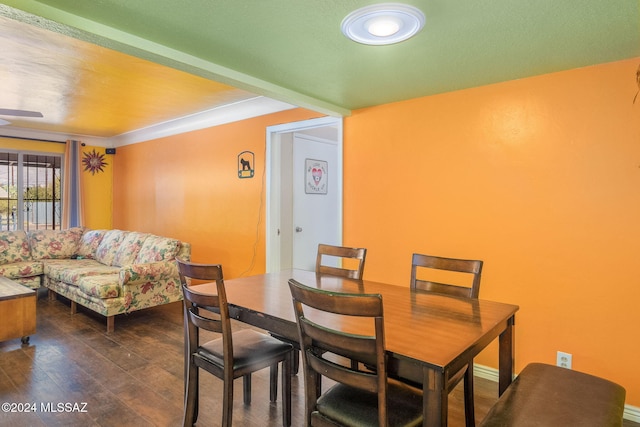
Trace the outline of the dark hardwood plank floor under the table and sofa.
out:
M 183 407 L 182 306 L 179 303 L 105 319 L 80 309 L 70 314 L 64 299 L 37 304 L 37 333 L 28 346 L 0 343 L 0 402 L 31 412 L 0 412 L 12 426 L 179 426 Z M 235 323 L 234 327 L 246 327 Z M 251 405 L 242 403 L 236 381 L 233 421 L 237 426 L 281 426 L 280 399 L 269 402 L 269 371 L 253 376 Z M 221 383 L 203 372 L 198 425 L 220 424 Z M 476 378 L 476 419 L 495 402 L 497 384 Z M 304 387 L 292 381 L 293 426 L 302 425 Z M 65 405 L 66 404 L 66 405 Z M 61 407 L 60 407 L 61 405 Z M 34 410 L 35 409 L 35 410 Z M 54 412 L 55 409 L 57 412 Z M 450 398 L 449 425 L 464 425 L 461 385 Z M 625 421 L 625 427 L 640 424 Z

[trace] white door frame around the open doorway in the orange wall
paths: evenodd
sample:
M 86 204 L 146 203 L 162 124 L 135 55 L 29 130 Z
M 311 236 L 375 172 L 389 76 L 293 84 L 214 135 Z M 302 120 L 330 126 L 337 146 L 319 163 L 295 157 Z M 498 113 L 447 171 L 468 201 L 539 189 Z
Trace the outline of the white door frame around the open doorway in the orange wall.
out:
M 342 117 L 321 117 L 317 119 L 303 120 L 300 122 L 285 123 L 281 125 L 269 126 L 266 131 L 266 153 L 265 153 L 265 191 L 266 191 L 266 224 L 265 224 L 265 249 L 266 249 L 266 272 L 280 270 L 281 239 L 278 235 L 278 228 L 281 219 L 281 141 L 285 135 L 294 134 L 332 126 L 337 128 L 336 145 L 338 148 L 336 189 L 338 191 L 338 237 L 342 243 Z

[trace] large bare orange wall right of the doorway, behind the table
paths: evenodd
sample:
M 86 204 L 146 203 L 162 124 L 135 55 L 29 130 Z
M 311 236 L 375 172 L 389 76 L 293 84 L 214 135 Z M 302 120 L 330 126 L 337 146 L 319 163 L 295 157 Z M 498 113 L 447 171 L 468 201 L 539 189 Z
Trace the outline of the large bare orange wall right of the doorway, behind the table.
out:
M 482 259 L 481 298 L 520 306 L 517 371 L 569 352 L 640 406 L 639 62 L 346 118 L 344 241 L 368 248 L 365 277 L 408 285 L 413 252 Z

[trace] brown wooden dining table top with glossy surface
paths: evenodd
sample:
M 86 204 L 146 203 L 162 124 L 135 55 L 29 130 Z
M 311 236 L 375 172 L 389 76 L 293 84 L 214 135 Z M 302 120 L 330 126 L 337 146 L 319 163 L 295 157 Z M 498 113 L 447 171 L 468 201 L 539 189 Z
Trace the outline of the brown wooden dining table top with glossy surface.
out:
M 305 270 L 225 280 L 229 306 L 272 317 L 282 324 L 282 328 L 275 328 L 280 330 L 272 332 L 297 339 L 289 279 L 327 291 L 381 294 L 387 352 L 395 358 L 412 359 L 441 372 L 464 366 L 496 338 L 505 322 L 512 321 L 519 309 L 513 304 L 416 292 L 408 286 L 318 275 Z M 215 286 L 201 284 L 194 290 L 215 293 Z

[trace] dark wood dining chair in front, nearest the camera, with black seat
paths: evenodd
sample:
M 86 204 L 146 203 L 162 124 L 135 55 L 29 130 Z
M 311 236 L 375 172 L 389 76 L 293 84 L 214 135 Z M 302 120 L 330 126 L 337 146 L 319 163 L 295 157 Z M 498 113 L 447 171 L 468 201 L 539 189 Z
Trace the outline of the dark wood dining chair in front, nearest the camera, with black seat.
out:
M 306 425 L 422 425 L 421 390 L 387 377 L 382 296 L 330 292 L 294 279 L 289 288 L 302 351 Z M 366 329 L 335 326 L 354 321 L 365 322 Z M 360 370 L 339 360 L 376 369 Z M 323 393 L 318 387 L 321 377 L 335 382 Z

